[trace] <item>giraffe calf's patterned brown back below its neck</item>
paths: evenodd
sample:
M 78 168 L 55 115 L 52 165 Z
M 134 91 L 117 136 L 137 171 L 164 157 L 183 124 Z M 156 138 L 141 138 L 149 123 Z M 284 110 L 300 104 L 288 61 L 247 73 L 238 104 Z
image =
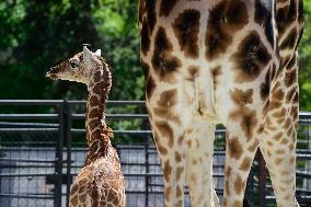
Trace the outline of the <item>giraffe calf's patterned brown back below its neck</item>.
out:
M 110 147 L 106 157 L 100 157 L 81 169 L 70 191 L 70 206 L 124 207 L 125 202 L 125 183 L 117 152 Z

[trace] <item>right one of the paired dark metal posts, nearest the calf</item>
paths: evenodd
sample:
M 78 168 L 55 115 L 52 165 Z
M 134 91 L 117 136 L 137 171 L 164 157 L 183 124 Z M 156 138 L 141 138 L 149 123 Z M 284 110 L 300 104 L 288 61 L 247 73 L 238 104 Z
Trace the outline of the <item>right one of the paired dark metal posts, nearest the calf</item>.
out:
M 66 183 L 66 206 L 69 206 L 69 197 L 70 197 L 70 184 L 71 184 L 71 111 L 70 107 L 65 101 L 65 108 L 66 108 L 66 120 L 67 120 L 67 128 L 66 128 L 66 136 L 67 136 L 67 183 Z

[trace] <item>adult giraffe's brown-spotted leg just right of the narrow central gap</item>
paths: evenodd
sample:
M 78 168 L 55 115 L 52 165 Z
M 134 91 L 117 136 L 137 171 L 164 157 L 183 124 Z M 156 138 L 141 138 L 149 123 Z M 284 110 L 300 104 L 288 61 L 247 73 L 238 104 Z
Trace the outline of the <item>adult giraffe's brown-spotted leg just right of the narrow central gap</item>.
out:
M 253 88 L 230 84 L 227 90 L 216 95 L 216 108 L 227 131 L 223 207 L 242 207 L 251 164 L 260 143 L 264 104 L 260 91 Z

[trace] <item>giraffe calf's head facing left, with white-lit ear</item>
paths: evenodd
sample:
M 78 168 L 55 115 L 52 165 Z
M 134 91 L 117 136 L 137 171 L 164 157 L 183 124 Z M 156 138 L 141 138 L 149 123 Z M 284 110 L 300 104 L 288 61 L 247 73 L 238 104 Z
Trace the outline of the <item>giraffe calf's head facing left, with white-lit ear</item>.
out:
M 83 46 L 83 51 L 76 54 L 73 57 L 66 59 L 61 64 L 51 67 L 46 73 L 46 77 L 53 80 L 69 80 L 89 84 L 90 77 L 96 65 L 96 59 L 101 56 L 101 50 L 92 53 L 87 46 Z

